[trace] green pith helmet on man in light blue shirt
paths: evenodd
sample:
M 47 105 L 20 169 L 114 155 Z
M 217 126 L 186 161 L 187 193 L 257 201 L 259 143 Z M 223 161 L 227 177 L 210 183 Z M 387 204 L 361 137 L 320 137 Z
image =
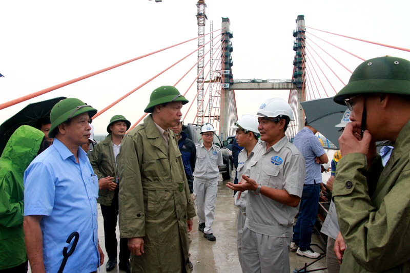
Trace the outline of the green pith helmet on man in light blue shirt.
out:
M 51 127 L 48 137 L 55 137 L 54 131 L 61 123 L 86 112 L 91 118 L 97 113 L 97 109 L 77 98 L 66 98 L 58 101 L 50 112 Z

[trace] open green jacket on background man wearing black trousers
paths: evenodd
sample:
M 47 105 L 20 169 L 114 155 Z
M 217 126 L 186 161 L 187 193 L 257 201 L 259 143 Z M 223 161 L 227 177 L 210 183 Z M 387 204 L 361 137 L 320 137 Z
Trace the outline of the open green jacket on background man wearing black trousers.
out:
M 90 154 L 90 163 L 98 180 L 107 176 L 117 177 L 114 149 L 112 148 L 112 136 L 109 134 L 103 141 L 98 142 Z M 115 180 L 114 180 L 115 181 Z M 98 191 L 97 203 L 110 206 L 115 191 L 108 188 Z

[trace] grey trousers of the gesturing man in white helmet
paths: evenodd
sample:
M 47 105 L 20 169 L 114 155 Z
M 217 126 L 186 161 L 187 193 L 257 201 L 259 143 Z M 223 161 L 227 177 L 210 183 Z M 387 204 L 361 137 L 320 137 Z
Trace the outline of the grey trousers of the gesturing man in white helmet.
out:
M 243 273 L 289 273 L 289 251 L 292 237 L 273 237 L 242 230 Z

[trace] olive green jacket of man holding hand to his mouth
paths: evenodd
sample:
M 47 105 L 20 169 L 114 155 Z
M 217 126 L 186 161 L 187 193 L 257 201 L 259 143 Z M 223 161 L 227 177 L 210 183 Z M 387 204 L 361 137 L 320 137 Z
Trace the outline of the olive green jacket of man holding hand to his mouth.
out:
M 346 250 L 340 272 L 410 272 L 410 121 L 383 168 L 378 155 L 340 159 L 333 186 Z

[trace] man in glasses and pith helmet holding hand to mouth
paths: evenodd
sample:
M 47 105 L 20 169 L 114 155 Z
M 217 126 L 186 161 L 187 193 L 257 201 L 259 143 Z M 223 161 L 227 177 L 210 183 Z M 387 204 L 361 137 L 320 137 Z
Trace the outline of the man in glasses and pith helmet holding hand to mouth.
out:
M 410 61 L 364 61 L 334 101 L 352 111 L 333 185 L 340 271 L 410 272 Z M 383 167 L 384 140 L 394 150 Z

